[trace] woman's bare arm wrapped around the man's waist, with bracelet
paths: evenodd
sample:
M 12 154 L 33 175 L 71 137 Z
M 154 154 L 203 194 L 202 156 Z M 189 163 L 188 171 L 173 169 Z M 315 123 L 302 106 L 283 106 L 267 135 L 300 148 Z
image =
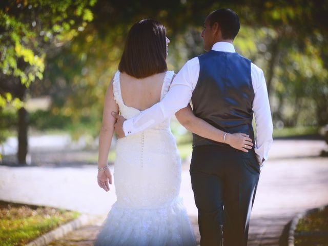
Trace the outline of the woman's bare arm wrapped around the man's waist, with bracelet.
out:
M 204 138 L 208 138 L 217 142 L 223 142 L 224 134 L 226 134 L 226 132 L 217 129 L 205 120 L 196 117 L 191 109 L 190 104 L 186 108 L 180 109 L 178 112 L 176 112 L 175 116 L 180 124 L 188 131 Z M 248 152 L 247 149 L 251 149 L 251 146 L 253 146 L 252 139 L 244 133 L 227 133 L 226 140 L 224 142 L 231 147 L 243 152 Z

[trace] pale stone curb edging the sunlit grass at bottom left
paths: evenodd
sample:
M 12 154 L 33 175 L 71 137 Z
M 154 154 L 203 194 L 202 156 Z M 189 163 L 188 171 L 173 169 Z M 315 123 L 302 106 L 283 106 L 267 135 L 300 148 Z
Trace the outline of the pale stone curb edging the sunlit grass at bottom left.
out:
M 47 232 L 46 234 L 43 234 L 42 236 L 37 237 L 33 241 L 29 242 L 28 244 L 25 244 L 25 246 L 46 246 L 51 241 L 59 239 L 66 234 L 68 234 L 71 231 L 74 231 L 75 229 L 78 229 L 82 226 L 85 226 L 92 220 L 94 220 L 96 216 L 89 215 L 89 214 L 81 214 L 79 217 L 77 217 L 74 220 L 71 220 L 65 224 L 61 224 L 56 229 Z

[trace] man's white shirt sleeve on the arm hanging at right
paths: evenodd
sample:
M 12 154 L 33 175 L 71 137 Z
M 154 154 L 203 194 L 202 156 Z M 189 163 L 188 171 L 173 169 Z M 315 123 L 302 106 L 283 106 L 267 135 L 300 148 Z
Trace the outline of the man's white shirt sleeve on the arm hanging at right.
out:
M 273 123 L 269 104 L 267 84 L 263 71 L 252 64 L 252 80 L 255 97 L 253 101 L 253 112 L 256 122 L 256 144 L 255 153 L 259 160 L 268 159 L 273 138 Z

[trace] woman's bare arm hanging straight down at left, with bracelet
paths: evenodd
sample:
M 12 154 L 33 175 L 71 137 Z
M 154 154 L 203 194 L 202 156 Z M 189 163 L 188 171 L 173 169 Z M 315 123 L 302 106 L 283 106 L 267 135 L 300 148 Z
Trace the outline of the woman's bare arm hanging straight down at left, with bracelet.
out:
M 118 105 L 114 100 L 113 78 L 107 88 L 105 95 L 103 122 L 99 133 L 98 168 L 106 167 L 108 162 L 108 154 L 112 144 L 114 124 L 116 121 L 111 112 L 118 113 Z M 98 185 L 106 191 L 109 190 L 107 181 L 112 183 L 109 169 L 107 168 L 105 170 L 98 171 Z M 101 182 L 104 182 L 106 186 L 103 186 L 103 183 Z

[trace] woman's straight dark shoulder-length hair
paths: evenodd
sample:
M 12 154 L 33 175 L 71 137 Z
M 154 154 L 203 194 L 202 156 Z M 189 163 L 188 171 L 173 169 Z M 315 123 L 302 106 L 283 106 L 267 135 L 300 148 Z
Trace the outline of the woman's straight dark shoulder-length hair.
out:
M 166 56 L 165 27 L 156 20 L 142 19 L 129 31 L 118 70 L 145 78 L 168 70 Z

